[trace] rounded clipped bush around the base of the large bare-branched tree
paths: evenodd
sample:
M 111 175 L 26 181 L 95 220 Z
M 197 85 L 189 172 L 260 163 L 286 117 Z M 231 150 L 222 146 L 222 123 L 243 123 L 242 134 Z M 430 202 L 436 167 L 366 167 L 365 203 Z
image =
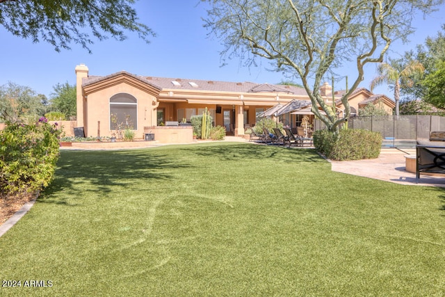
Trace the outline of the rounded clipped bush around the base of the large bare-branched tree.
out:
M 314 146 L 332 160 L 375 159 L 380 154 L 382 135 L 364 129 L 343 129 L 338 134 L 319 130 L 314 132 Z

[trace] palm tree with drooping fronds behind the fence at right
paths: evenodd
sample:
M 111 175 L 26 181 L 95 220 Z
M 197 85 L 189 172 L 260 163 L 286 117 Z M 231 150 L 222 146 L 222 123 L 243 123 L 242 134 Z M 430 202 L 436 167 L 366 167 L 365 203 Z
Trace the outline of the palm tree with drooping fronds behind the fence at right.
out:
M 401 86 L 410 88 L 414 84 L 412 79 L 422 75 L 425 68 L 419 61 L 405 62 L 403 59 L 389 59 L 389 63 L 380 63 L 377 67 L 378 77 L 371 81 L 371 92 L 376 86 L 384 83 L 394 88 L 394 101 L 396 102 L 396 116 L 398 116 L 398 102 L 401 97 Z

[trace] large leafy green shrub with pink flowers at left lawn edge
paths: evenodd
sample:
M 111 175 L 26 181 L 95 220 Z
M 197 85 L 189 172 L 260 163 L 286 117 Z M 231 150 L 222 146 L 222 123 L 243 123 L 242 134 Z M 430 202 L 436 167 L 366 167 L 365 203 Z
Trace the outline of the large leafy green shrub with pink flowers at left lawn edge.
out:
M 33 192 L 51 183 L 59 156 L 59 134 L 46 118 L 35 125 L 8 123 L 0 132 L 1 193 Z

